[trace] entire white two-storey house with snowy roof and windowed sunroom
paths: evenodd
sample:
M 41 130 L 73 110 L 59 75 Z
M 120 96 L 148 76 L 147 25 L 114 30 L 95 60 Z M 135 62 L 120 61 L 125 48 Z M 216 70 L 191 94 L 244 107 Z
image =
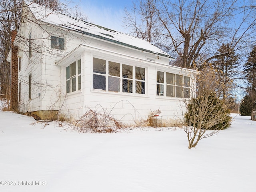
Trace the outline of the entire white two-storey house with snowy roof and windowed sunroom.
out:
M 173 58 L 149 42 L 24 4 L 14 41 L 20 112 L 78 119 L 92 109 L 129 122 L 160 109 L 173 124 L 181 99 L 193 95 L 195 71 L 170 66 Z

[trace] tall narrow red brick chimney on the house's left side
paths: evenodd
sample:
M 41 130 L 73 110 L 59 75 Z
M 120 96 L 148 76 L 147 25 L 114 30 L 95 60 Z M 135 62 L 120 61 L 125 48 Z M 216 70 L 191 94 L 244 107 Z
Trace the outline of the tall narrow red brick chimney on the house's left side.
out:
M 12 31 L 12 61 L 11 61 L 11 110 L 18 110 L 18 47 L 13 42 L 16 38 L 17 31 Z

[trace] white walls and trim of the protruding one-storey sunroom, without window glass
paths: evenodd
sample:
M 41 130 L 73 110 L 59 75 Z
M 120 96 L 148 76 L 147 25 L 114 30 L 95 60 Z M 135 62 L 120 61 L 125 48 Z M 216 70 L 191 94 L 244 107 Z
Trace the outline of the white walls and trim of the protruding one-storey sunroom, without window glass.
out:
M 108 45 L 108 47 L 107 47 Z M 97 48 L 93 48 L 93 47 Z M 70 65 L 75 58 L 81 57 L 82 65 L 82 90 L 64 94 L 66 91 L 66 66 Z M 93 57 L 118 62 L 120 64 L 134 65 L 146 70 L 146 93 L 108 92 L 92 88 L 92 59 Z M 73 59 L 70 59 L 73 58 Z M 156 62 L 147 61 L 146 58 L 155 59 Z M 171 98 L 156 95 L 156 72 L 167 71 L 174 74 L 191 76 L 182 68 L 169 65 L 168 58 L 163 58 L 146 52 L 134 51 L 111 43 L 90 40 L 90 44 L 81 46 L 76 52 L 62 59 L 62 103 L 60 113 L 71 119 L 78 119 L 88 110 L 98 112 L 110 112 L 111 116 L 126 123 L 138 122 L 147 119 L 151 111 L 161 110 L 163 123 L 175 124 L 176 116 L 181 115 L 182 98 Z M 191 76 L 191 78 L 193 78 Z M 133 84 L 135 86 L 135 84 Z M 122 89 L 122 88 L 121 88 Z M 84 96 L 84 98 L 82 98 Z M 70 116 L 69 116 L 70 115 Z

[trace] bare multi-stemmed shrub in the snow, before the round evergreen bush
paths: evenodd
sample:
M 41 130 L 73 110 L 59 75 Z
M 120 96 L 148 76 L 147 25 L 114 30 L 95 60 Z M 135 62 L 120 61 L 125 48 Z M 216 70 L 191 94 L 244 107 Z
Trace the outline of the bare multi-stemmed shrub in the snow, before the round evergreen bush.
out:
M 204 68 L 197 80 L 196 98 L 183 99 L 186 113 L 181 122 L 188 138 L 189 149 L 196 147 L 203 138 L 227 128 L 231 121 L 228 102 L 220 100 L 214 92 L 218 84 L 214 70 Z

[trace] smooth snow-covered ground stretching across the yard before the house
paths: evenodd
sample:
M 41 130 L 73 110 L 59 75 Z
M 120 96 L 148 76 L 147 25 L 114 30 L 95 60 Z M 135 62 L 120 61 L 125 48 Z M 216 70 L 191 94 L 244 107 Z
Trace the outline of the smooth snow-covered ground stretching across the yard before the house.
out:
M 256 122 L 188 149 L 183 130 L 79 134 L 0 112 L 0 192 L 255 192 Z

